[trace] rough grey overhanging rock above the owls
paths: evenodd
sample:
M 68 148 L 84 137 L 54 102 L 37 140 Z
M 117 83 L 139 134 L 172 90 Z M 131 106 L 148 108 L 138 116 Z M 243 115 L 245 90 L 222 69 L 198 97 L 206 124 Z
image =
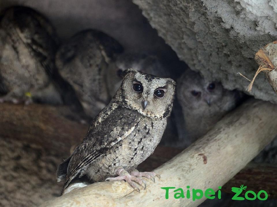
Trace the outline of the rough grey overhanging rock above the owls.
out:
M 244 91 L 259 67 L 255 53 L 277 39 L 277 2 L 271 0 L 133 0 L 152 27 L 191 69 Z M 277 103 L 260 74 L 250 94 Z

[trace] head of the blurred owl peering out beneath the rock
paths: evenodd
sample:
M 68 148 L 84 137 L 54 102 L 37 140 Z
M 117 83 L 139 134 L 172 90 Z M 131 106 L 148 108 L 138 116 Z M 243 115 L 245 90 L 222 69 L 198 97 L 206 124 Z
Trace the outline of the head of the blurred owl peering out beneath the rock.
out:
M 221 104 L 225 90 L 218 82 L 208 81 L 187 70 L 178 80 L 177 97 L 188 110 L 211 110 Z

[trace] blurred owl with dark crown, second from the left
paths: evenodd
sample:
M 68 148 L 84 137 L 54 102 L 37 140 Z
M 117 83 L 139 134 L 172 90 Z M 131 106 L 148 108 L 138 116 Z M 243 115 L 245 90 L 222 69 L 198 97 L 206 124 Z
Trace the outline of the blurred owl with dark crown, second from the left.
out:
M 63 44 L 56 54 L 59 73 L 74 89 L 85 113 L 96 116 L 111 100 L 107 67 L 122 46 L 97 30 L 84 30 Z

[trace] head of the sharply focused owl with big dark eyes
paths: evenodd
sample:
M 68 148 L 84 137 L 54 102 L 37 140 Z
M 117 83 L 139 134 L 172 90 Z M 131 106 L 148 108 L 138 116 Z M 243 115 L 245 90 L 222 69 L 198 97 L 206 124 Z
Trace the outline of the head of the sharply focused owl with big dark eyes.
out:
M 123 106 L 137 110 L 144 116 L 155 119 L 166 118 L 172 110 L 175 81 L 171 78 L 138 72 L 134 69 L 122 73 L 123 81 L 116 99 Z

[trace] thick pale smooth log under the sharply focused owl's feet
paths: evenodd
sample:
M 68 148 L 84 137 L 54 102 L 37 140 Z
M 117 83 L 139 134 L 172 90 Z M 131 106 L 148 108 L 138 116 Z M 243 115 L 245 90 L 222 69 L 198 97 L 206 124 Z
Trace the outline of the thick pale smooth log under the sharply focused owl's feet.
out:
M 138 193 L 128 183 L 100 182 L 77 189 L 41 206 L 198 206 L 205 198 L 165 199 L 161 187 L 215 191 L 236 175 L 277 134 L 277 106 L 249 100 L 225 116 L 216 126 L 170 161 L 158 167 L 161 179 L 147 180 Z M 245 185 L 247 185 L 245 183 Z

